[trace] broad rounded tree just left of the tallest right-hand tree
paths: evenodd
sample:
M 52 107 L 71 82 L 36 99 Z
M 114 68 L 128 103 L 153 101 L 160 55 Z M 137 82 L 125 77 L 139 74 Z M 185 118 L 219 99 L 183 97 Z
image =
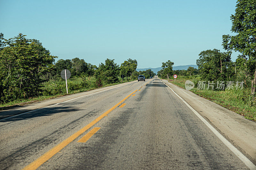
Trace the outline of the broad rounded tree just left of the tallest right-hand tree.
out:
M 208 81 L 226 81 L 232 73 L 231 52 L 223 52 L 220 50 L 206 50 L 199 54 L 196 64 L 202 78 Z

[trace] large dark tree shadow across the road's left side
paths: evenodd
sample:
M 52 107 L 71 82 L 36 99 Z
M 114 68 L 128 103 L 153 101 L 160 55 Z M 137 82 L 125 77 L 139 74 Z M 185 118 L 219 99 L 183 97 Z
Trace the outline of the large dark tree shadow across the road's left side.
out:
M 81 110 L 81 109 L 78 109 L 78 108 L 72 107 L 72 106 L 62 106 L 62 107 L 59 106 L 59 107 L 52 107 L 52 108 L 43 108 L 40 110 L 35 110 L 35 111 L 29 112 L 29 113 L 25 113 L 30 110 L 24 109 L 22 111 L 25 114 L 19 115 L 16 117 L 11 117 L 11 118 L 8 118 L 5 120 L 0 119 L 0 122 L 13 122 L 13 121 L 19 121 L 19 120 L 24 120 L 24 119 L 31 119 L 34 117 L 50 116 L 50 115 L 53 115 L 56 113 L 61 113 L 61 112 L 75 112 L 78 110 Z M 6 117 L 3 117 L 2 119 L 4 119 L 4 118 L 6 118 Z

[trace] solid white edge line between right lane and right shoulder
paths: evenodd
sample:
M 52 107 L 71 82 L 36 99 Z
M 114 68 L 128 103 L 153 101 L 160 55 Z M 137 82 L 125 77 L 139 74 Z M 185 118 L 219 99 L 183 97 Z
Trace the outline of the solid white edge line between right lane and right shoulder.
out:
M 161 79 L 160 79 L 161 80 Z M 161 80 L 162 81 L 162 80 Z M 164 83 L 164 81 L 162 81 Z M 165 84 L 165 83 L 164 83 Z M 169 87 L 168 85 L 166 85 Z M 170 88 L 170 87 L 169 87 Z M 172 88 L 170 88 L 172 90 Z M 209 122 L 207 122 L 204 117 L 202 117 L 195 109 L 193 109 L 183 98 L 181 98 L 174 90 L 172 92 L 180 98 L 180 100 L 185 103 L 189 109 L 191 109 L 197 117 L 199 117 L 204 124 L 230 149 L 244 164 L 251 170 L 256 170 L 256 166 L 248 159 L 242 152 L 240 152 L 234 145 L 232 145 L 226 138 L 224 138 L 220 132 L 218 132 Z

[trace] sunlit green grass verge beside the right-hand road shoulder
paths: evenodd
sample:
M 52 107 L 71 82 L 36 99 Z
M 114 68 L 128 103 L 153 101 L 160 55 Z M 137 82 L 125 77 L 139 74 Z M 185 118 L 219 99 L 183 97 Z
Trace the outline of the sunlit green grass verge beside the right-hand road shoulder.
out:
M 197 84 L 200 77 L 192 76 L 179 76 L 176 81 L 169 80 L 169 82 L 185 89 L 185 81 L 190 80 Z M 193 88 L 190 91 L 197 94 L 198 96 L 204 97 L 214 103 L 217 103 L 228 110 L 232 110 L 246 119 L 256 122 L 256 107 L 251 106 L 249 100 L 250 88 L 243 89 L 226 89 L 226 90 L 210 90 L 210 89 L 197 89 Z

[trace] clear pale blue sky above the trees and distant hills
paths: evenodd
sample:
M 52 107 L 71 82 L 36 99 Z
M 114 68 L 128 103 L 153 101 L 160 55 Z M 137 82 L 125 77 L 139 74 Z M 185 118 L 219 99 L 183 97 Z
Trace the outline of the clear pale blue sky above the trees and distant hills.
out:
M 106 58 L 138 68 L 196 64 L 198 54 L 231 34 L 235 0 L 0 0 L 0 32 L 37 39 L 58 59 L 78 57 L 99 65 Z M 238 53 L 232 54 L 236 60 Z

